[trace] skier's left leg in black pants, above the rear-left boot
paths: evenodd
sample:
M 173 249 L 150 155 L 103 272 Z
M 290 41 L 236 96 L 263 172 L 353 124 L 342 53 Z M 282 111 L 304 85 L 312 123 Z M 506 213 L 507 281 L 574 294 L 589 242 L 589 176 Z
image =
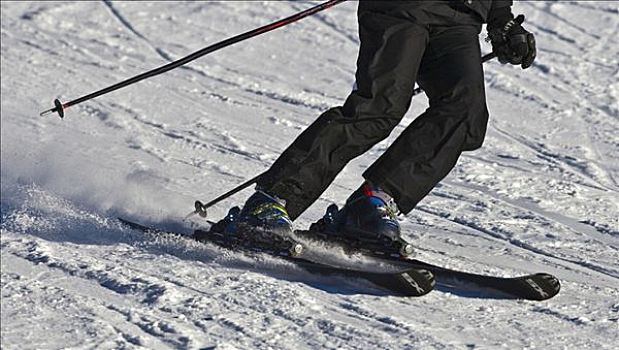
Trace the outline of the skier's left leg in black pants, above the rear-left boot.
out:
M 286 149 L 258 188 L 286 200 L 297 218 L 353 158 L 385 139 L 406 113 L 427 42 L 410 18 L 359 11 L 356 89 Z

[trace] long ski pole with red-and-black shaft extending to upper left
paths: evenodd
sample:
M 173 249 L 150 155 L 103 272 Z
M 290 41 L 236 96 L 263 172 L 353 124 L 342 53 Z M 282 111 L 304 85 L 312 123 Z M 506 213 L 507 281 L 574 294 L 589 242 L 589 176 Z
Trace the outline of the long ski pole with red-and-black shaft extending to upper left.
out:
M 165 64 L 165 65 L 161 66 L 161 67 L 152 69 L 150 71 L 138 74 L 138 75 L 136 75 L 136 76 L 134 76 L 132 78 L 129 78 L 127 80 L 121 81 L 121 82 L 116 83 L 114 85 L 108 86 L 108 87 L 103 88 L 101 90 L 95 91 L 95 92 L 90 93 L 88 95 L 84 95 L 84 96 L 82 96 L 80 98 L 77 98 L 77 99 L 75 99 L 73 101 L 62 103 L 62 102 L 60 102 L 60 100 L 55 99 L 54 100 L 54 108 L 48 109 L 46 111 L 43 111 L 43 112 L 41 112 L 40 115 L 44 116 L 44 115 L 47 115 L 47 114 L 50 114 L 50 113 L 57 112 L 58 115 L 60 116 L 60 118 L 64 118 L 64 110 L 66 108 L 70 107 L 70 106 L 74 106 L 74 105 L 82 103 L 84 101 L 88 101 L 90 99 L 93 99 L 95 97 L 98 97 L 98 96 L 107 94 L 109 92 L 118 90 L 118 89 L 123 88 L 125 86 L 129 86 L 129 85 L 135 84 L 135 83 L 137 83 L 140 80 L 144 80 L 146 78 L 150 78 L 150 77 L 153 77 L 155 75 L 159 75 L 159 74 L 165 73 L 165 72 L 170 71 L 170 70 L 172 70 L 174 68 L 177 68 L 177 67 L 180 67 L 182 65 L 185 65 L 185 64 L 187 64 L 187 63 L 189 63 L 189 62 L 191 62 L 191 61 L 193 61 L 193 60 L 195 60 L 197 58 L 200 58 L 200 57 L 202 57 L 204 55 L 207 55 L 207 54 L 209 54 L 211 52 L 214 52 L 214 51 L 217 51 L 217 50 L 222 49 L 224 47 L 230 46 L 232 44 L 236 44 L 238 42 L 247 40 L 249 38 L 253 38 L 253 37 L 257 36 L 257 35 L 270 32 L 270 31 L 272 31 L 274 29 L 283 27 L 285 25 L 288 25 L 290 23 L 296 22 L 296 21 L 298 21 L 300 19 L 303 19 L 305 17 L 311 16 L 311 15 L 313 15 L 313 14 L 315 14 L 317 12 L 320 12 L 322 10 L 326 10 L 326 9 L 328 9 L 330 7 L 333 7 L 333 6 L 335 6 L 335 5 L 339 4 L 339 3 L 342 3 L 344 1 L 346 1 L 346 0 L 329 0 L 327 2 L 324 2 L 324 3 L 320 4 L 320 5 L 316 5 L 316 6 L 312 7 L 312 8 L 307 9 L 307 10 L 304 10 L 304 11 L 301 11 L 299 13 L 296 13 L 296 14 L 290 16 L 290 17 L 286 17 L 284 19 L 280 19 L 280 20 L 278 20 L 276 22 L 273 22 L 271 24 L 267 24 L 267 25 L 262 26 L 260 28 L 256 28 L 256 29 L 250 30 L 248 32 L 245 32 L 243 34 L 239 34 L 239 35 L 236 35 L 234 37 L 228 38 L 226 40 L 220 41 L 220 42 L 218 42 L 216 44 L 213 44 L 213 45 L 205 47 L 205 48 L 203 48 L 203 49 L 201 49 L 199 51 L 196 51 L 196 52 L 190 54 L 189 56 L 183 57 L 183 58 L 178 59 L 178 60 L 176 60 L 174 62 L 170 62 L 168 64 Z

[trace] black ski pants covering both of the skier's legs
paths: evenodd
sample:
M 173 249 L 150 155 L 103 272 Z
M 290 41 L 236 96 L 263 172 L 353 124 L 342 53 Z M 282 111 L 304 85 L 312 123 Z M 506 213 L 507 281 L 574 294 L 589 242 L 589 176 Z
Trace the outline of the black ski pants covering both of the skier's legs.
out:
M 403 4 L 403 5 L 402 5 Z M 323 113 L 259 179 L 286 200 L 294 220 L 353 158 L 389 136 L 407 112 L 415 82 L 429 98 L 363 177 L 410 212 L 483 142 L 488 111 L 479 47 L 481 19 L 448 1 L 360 2 L 356 88 Z

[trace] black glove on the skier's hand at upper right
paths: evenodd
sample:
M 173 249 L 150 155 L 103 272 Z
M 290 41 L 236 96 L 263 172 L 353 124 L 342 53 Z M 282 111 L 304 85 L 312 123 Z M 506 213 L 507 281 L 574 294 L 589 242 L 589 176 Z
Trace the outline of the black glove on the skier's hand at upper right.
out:
M 522 28 L 522 22 L 524 16 L 518 15 L 516 18 L 503 17 L 488 23 L 488 40 L 499 62 L 519 64 L 527 69 L 535 60 L 537 50 L 535 37 Z

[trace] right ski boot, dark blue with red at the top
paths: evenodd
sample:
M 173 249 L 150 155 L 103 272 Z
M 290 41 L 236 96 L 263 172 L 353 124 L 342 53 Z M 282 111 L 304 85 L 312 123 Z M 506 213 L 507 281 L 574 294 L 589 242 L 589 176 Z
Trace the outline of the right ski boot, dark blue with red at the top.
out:
M 330 205 L 309 232 L 322 233 L 322 239 L 340 241 L 351 251 L 407 257 L 413 253 L 413 246 L 400 237 L 396 215 L 393 198 L 366 183 L 348 198 L 342 209 Z

